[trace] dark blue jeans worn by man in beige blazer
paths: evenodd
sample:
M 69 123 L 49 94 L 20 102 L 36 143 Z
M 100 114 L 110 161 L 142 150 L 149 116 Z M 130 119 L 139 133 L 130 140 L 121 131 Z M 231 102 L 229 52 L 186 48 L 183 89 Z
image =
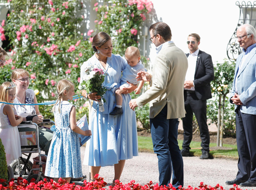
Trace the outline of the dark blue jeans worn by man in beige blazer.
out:
M 150 119 L 154 152 L 158 158 L 159 185 L 168 186 L 172 176 L 173 187 L 183 187 L 183 159 L 177 141 L 179 121 L 166 118 L 167 105 L 156 117 Z

